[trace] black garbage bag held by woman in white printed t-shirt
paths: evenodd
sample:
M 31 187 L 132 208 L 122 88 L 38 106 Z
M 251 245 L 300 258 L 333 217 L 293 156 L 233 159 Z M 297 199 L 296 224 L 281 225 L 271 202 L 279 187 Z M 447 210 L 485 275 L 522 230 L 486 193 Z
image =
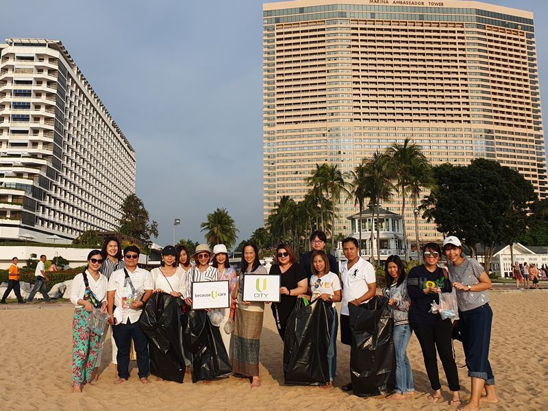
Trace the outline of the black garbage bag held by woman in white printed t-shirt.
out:
M 284 378 L 291 385 L 329 384 L 327 349 L 334 310 L 322 299 L 305 306 L 298 299 L 284 337 Z

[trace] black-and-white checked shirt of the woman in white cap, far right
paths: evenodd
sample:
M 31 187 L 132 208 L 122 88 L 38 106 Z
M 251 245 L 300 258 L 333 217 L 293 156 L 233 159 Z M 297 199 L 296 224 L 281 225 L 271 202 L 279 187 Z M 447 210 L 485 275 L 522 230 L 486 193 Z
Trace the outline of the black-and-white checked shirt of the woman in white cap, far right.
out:
M 479 284 L 479 276 L 484 272 L 484 268 L 473 258 L 465 260 L 455 265 L 449 262 L 449 279 L 452 283 L 460 282 L 464 286 L 473 286 Z M 487 291 L 457 291 L 457 303 L 459 311 L 470 311 L 474 308 L 483 306 L 489 302 Z

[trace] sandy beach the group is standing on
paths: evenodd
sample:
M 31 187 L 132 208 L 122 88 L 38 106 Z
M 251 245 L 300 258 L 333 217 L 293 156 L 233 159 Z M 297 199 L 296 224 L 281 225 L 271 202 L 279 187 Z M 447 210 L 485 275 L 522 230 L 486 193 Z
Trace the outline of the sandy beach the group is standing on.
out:
M 548 393 L 548 319 L 545 315 L 548 292 L 536 290 L 490 292 L 493 319 L 490 361 L 497 379 L 499 404 L 484 410 L 545 410 Z M 81 395 L 71 393 L 71 319 L 69 303 L 33 306 L 9 304 L 0 309 L 0 409 L 1 410 L 440 410 L 450 395 L 443 371 L 443 403 L 431 405 L 426 398 L 429 384 L 419 343 L 412 336 L 408 353 L 417 390 L 413 399 L 389 401 L 358 398 L 340 390 L 349 382 L 349 347 L 338 345 L 336 388 L 285 386 L 282 373 L 282 341 L 268 309 L 261 338 L 262 386 L 249 388 L 249 382 L 236 377 L 192 384 L 157 382 L 143 386 L 134 367 L 132 376 L 121 386 L 114 384 L 110 364 L 110 344 L 105 345 L 99 382 L 85 386 Z M 464 365 L 462 345 L 456 342 L 456 358 Z M 441 366 L 440 366 L 441 367 Z M 462 399 L 470 393 L 466 368 L 459 369 Z

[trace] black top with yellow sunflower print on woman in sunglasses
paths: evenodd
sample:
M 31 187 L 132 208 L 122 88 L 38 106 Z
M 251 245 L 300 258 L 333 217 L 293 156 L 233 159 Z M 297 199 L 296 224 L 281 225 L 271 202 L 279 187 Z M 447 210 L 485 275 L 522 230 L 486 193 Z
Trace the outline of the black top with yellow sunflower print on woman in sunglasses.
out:
M 425 294 L 423 292 L 425 283 L 432 281 L 442 292 L 451 291 L 451 283 L 445 278 L 443 269 L 436 268 L 434 273 L 426 269 L 424 264 L 413 267 L 407 278 L 407 291 L 411 299 L 409 307 L 410 322 L 441 321 L 440 314 L 429 312 L 432 301 L 440 302 L 438 294 Z

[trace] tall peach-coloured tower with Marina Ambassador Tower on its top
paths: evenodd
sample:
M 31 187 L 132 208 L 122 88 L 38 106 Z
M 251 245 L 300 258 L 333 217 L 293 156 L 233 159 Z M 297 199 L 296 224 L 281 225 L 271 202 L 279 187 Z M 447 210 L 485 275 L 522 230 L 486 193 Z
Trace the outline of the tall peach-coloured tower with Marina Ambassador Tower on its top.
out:
M 264 216 L 316 163 L 350 171 L 412 138 L 432 164 L 512 167 L 547 197 L 533 14 L 477 1 L 263 5 Z M 414 224 L 411 203 L 408 227 Z M 395 195 L 383 204 L 401 212 Z M 353 201 L 336 233 L 350 232 Z M 421 238 L 438 238 L 421 222 Z

